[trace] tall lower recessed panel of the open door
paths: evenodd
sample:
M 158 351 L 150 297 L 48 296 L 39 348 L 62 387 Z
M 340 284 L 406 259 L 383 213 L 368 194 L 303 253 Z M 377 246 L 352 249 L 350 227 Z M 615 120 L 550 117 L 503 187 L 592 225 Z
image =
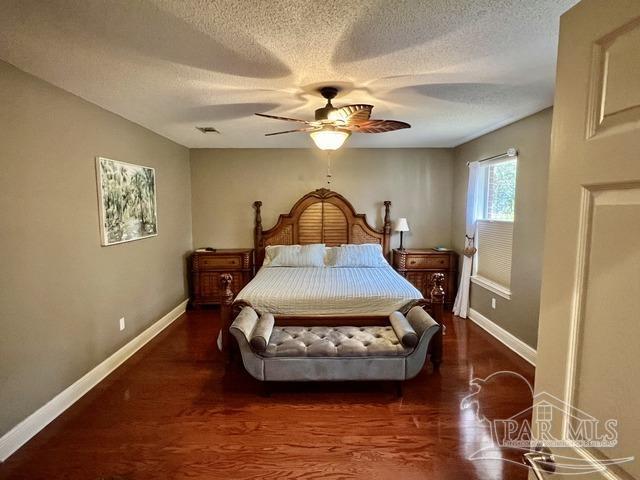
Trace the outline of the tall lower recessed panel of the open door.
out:
M 602 422 L 618 421 L 615 447 L 589 449 L 597 458 L 625 457 L 640 439 L 640 416 L 628 408 L 629 399 L 640 398 L 638 358 L 630 355 L 640 338 L 640 188 L 629 187 L 610 185 L 589 192 L 586 215 L 584 307 L 573 404 Z M 619 468 L 640 478 L 639 466 L 629 462 Z

